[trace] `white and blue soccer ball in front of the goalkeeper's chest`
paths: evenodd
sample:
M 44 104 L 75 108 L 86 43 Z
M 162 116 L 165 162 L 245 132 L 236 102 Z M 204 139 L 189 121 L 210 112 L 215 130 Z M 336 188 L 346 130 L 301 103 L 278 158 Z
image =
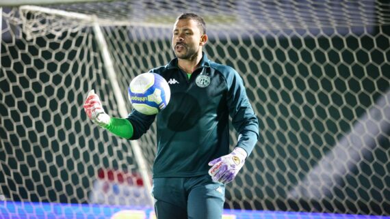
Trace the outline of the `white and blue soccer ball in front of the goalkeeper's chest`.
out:
M 133 78 L 128 94 L 133 108 L 145 115 L 159 113 L 170 100 L 168 83 L 155 73 L 143 73 Z

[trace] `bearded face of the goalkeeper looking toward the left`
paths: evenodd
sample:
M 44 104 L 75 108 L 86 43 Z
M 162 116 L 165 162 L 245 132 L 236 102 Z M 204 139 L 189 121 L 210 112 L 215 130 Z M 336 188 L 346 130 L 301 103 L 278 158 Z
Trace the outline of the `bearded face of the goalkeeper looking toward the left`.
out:
M 202 33 L 198 23 L 192 19 L 181 19 L 174 23 L 172 48 L 179 59 L 192 59 L 202 43 Z

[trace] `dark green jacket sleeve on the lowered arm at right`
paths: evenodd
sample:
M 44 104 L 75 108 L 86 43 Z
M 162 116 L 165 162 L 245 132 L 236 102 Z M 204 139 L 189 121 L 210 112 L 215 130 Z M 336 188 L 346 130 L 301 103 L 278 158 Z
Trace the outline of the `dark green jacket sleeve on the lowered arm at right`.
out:
M 246 95 L 244 82 L 233 68 L 230 68 L 226 82 L 229 114 L 233 127 L 238 132 L 236 147 L 245 149 L 249 156 L 259 138 L 259 121 Z

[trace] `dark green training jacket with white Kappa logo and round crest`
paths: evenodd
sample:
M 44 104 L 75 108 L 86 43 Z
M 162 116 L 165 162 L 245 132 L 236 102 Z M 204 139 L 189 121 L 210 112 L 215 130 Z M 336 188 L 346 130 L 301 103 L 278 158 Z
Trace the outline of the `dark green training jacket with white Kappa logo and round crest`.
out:
M 170 86 L 170 102 L 157 114 L 157 154 L 153 177 L 194 177 L 209 171 L 208 162 L 229 154 L 229 115 L 238 132 L 235 147 L 252 151 L 259 125 L 242 78 L 231 67 L 207 59 L 190 79 L 177 58 L 150 72 L 163 76 Z M 137 139 L 150 128 L 156 115 L 132 111 L 127 119 Z

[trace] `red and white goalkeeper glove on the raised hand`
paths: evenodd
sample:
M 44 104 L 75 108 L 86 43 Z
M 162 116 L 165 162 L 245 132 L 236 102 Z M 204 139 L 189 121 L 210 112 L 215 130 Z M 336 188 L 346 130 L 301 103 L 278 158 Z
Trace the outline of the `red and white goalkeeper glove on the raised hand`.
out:
M 84 102 L 84 111 L 86 111 L 88 118 L 101 127 L 105 127 L 109 123 L 109 115 L 105 113 L 103 105 L 101 104 L 99 96 L 92 89 L 88 92 L 86 102 Z

